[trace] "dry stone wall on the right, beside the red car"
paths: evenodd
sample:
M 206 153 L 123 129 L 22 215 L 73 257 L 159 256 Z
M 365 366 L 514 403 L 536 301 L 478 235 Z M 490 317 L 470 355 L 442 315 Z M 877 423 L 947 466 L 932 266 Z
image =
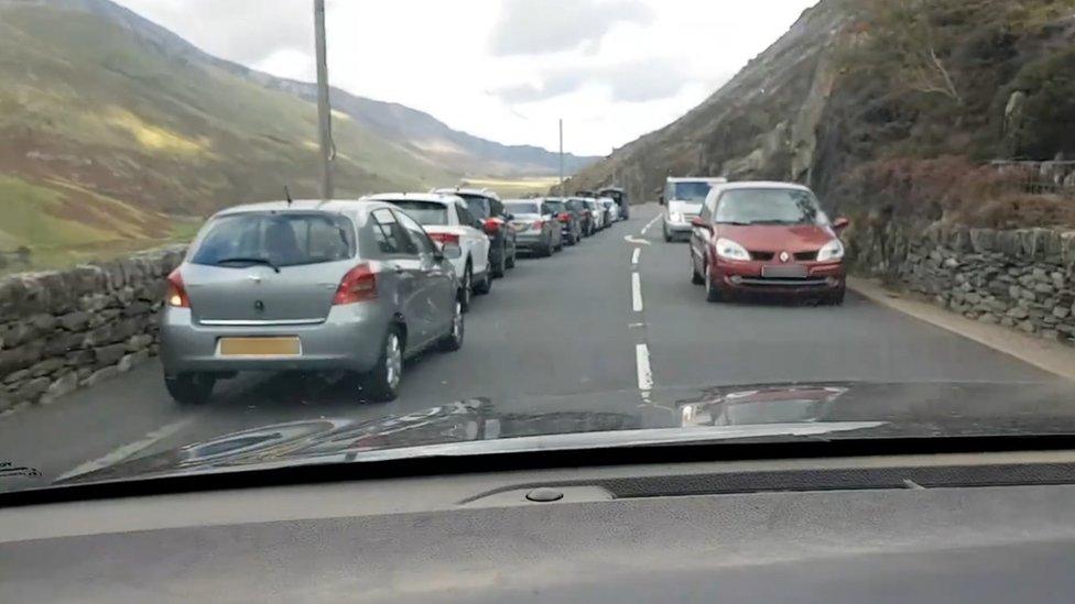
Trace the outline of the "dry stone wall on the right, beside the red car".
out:
M 856 272 L 970 319 L 1073 343 L 1075 231 L 888 223 L 846 239 Z

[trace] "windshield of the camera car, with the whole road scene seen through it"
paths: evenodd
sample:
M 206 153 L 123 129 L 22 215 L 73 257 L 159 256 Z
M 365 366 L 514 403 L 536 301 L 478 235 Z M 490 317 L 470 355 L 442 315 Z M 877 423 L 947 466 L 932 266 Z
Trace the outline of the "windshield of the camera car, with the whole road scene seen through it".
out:
M 1073 36 L 1075 0 L 0 0 L 0 507 L 1075 437 Z

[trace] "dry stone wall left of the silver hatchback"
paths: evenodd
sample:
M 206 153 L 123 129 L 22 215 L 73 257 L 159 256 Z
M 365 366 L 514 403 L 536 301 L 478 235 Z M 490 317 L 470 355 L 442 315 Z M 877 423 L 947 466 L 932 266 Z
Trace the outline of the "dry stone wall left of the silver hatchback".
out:
M 183 251 L 0 278 L 0 411 L 47 403 L 156 354 L 164 277 Z

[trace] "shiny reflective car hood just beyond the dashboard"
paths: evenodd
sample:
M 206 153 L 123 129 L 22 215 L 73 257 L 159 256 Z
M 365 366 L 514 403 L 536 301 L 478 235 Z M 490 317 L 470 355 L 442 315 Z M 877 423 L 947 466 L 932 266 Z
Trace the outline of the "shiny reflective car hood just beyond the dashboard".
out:
M 763 384 L 498 404 L 471 398 L 373 420 L 311 419 L 192 442 L 57 484 L 311 463 L 622 446 L 1075 432 L 1064 383 Z

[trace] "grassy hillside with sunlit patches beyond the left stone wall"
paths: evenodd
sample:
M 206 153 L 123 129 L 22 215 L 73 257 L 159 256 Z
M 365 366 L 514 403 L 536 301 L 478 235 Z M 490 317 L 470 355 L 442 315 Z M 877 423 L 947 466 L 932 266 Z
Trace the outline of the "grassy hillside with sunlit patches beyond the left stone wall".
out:
M 316 194 L 312 103 L 99 17 L 0 3 L 0 252 L 76 260 L 166 241 L 184 216 L 285 184 Z M 338 195 L 458 180 L 346 117 L 335 141 Z

